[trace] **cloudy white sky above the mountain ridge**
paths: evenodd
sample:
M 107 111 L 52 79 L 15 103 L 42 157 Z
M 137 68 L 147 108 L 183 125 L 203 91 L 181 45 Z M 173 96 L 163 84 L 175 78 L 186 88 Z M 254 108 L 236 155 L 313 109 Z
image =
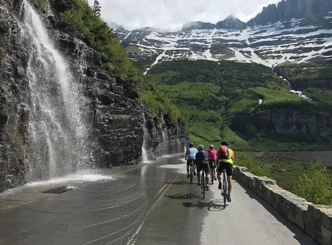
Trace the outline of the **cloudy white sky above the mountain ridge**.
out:
M 181 30 L 186 22 L 216 24 L 232 14 L 247 22 L 264 6 L 281 0 L 99 0 L 101 16 L 127 30 L 154 27 L 167 31 Z M 93 5 L 94 0 L 89 0 Z

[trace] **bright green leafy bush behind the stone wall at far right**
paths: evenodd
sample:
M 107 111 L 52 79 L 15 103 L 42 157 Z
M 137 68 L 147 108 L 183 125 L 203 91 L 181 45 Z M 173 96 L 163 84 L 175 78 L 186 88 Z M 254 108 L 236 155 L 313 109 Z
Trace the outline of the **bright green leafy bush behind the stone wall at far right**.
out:
M 300 176 L 292 191 L 308 202 L 332 205 L 332 186 L 325 168 L 320 163 L 310 166 L 310 173 Z

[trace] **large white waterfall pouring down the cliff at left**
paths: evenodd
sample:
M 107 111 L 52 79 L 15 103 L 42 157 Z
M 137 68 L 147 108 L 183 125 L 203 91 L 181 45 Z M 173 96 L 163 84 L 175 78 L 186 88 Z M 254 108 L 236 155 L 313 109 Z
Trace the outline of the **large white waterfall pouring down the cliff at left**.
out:
M 29 1 L 23 0 L 21 38 L 31 47 L 27 67 L 31 99 L 27 161 L 29 181 L 55 178 L 93 166 L 81 87 L 55 48 Z

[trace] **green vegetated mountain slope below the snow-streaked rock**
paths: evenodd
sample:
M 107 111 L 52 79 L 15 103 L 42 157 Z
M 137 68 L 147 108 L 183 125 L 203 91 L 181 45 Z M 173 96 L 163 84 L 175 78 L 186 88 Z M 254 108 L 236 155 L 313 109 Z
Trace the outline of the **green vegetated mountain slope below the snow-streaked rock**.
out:
M 273 108 L 317 111 L 319 102 L 306 102 L 269 67 L 232 61 L 176 60 L 153 66 L 148 76 L 187 114 L 188 132 L 197 145 L 228 140 L 236 150 L 330 149 L 326 138 L 275 132 L 244 134 L 244 118 Z M 259 101 L 262 100 L 262 104 Z M 242 122 L 241 122 L 242 121 Z

